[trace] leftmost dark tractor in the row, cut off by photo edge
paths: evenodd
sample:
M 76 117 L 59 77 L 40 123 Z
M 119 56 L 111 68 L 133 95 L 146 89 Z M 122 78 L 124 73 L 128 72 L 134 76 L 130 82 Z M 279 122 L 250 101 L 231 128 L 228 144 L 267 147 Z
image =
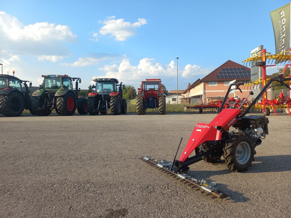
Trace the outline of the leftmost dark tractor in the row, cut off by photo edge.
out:
M 13 75 L 14 75 L 13 71 Z M 31 81 L 20 80 L 19 78 L 0 74 L 0 114 L 8 117 L 16 117 L 22 114 L 24 109 L 30 109 Z

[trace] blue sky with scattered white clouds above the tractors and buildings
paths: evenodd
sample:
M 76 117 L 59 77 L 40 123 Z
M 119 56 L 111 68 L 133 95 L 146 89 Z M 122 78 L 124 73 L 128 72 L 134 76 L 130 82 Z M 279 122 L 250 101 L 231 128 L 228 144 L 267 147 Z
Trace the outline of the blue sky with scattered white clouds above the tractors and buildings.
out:
M 0 0 L 0 63 L 33 86 L 41 75 L 67 74 L 81 77 L 81 89 L 98 77 L 136 88 L 161 78 L 177 90 L 178 60 L 185 90 L 227 60 L 241 64 L 259 45 L 274 54 L 270 12 L 289 2 Z

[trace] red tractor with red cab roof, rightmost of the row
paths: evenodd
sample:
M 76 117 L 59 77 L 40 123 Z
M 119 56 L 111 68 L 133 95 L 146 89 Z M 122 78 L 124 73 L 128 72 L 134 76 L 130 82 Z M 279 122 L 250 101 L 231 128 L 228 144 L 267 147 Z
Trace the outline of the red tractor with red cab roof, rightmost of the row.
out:
M 137 89 L 136 113 L 145 114 L 148 108 L 159 110 L 159 114 L 166 114 L 166 96 L 162 89 L 161 79 L 146 79 L 141 81 Z

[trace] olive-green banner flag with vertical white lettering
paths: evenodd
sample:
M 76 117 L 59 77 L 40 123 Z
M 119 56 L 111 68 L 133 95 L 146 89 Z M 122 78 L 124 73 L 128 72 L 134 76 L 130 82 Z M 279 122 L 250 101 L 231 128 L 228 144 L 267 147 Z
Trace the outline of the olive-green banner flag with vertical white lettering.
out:
M 282 6 L 270 12 L 274 36 L 276 54 L 290 50 L 290 4 Z M 276 64 L 285 60 L 276 60 Z

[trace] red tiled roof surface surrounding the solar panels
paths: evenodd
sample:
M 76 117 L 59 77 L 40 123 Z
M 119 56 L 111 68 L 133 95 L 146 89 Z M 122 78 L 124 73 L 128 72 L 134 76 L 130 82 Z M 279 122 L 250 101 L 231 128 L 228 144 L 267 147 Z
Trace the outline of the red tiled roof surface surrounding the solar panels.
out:
M 200 82 L 205 82 L 205 81 L 229 81 L 229 78 L 216 78 L 216 75 L 218 75 L 219 71 L 222 71 L 221 68 L 232 68 L 232 67 L 244 67 L 246 70 L 251 70 L 249 67 L 245 67 L 239 63 L 236 63 L 232 60 L 226 61 L 224 64 L 220 65 L 217 67 L 214 71 L 212 71 L 210 74 L 207 76 L 203 77 Z M 238 79 L 238 80 L 250 80 L 251 78 L 232 78 L 232 80 Z

